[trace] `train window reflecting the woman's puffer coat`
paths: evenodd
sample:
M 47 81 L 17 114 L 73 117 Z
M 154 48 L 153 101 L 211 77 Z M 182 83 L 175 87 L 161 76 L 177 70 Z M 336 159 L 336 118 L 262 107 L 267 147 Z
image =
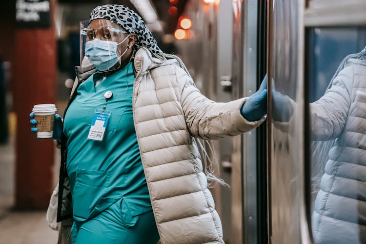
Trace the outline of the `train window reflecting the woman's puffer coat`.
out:
M 366 243 L 366 27 L 307 31 L 311 227 L 317 244 Z

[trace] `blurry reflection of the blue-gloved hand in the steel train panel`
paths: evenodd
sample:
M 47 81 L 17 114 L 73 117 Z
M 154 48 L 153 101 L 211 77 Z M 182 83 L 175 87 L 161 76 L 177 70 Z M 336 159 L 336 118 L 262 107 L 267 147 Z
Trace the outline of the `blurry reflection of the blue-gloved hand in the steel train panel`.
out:
M 288 122 L 292 116 L 293 108 L 291 99 L 287 95 L 283 95 L 276 91 L 272 82 L 272 104 L 273 104 L 273 120 L 278 122 Z

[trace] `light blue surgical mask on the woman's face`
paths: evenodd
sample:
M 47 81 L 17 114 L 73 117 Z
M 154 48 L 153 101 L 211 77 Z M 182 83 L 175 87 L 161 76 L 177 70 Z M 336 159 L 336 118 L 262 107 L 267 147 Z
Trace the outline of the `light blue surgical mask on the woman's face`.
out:
M 123 41 L 129 37 L 128 35 Z M 106 71 L 112 68 L 121 57 L 127 52 L 128 47 L 121 56 L 117 55 L 117 46 L 121 44 L 115 41 L 101 41 L 95 38 L 85 43 L 85 56 L 99 71 Z

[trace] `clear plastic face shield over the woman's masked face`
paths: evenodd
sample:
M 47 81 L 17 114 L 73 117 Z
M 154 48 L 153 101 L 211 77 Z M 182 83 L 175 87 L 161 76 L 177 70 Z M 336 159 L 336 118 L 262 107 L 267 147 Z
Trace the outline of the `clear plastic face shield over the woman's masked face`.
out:
M 109 20 L 80 22 L 80 64 L 93 63 L 98 72 L 113 71 L 121 66 L 128 50 L 130 34 Z

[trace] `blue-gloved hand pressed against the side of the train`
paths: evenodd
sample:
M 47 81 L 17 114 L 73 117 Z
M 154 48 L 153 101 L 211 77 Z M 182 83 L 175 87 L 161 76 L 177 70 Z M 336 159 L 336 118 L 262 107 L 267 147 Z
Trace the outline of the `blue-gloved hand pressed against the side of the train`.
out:
M 247 121 L 258 121 L 267 114 L 267 75 L 258 91 L 246 100 L 240 112 Z

